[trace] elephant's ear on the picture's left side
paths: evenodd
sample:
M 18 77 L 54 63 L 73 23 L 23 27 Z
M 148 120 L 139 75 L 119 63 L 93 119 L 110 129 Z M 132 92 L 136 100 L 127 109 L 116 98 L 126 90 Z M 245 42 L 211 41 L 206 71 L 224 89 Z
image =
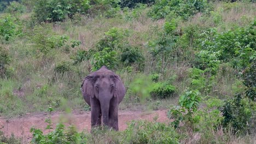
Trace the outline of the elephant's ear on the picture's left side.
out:
M 94 97 L 94 87 L 93 87 L 93 81 L 94 81 L 94 74 L 90 74 L 86 76 L 82 83 L 82 94 L 86 102 L 87 100 L 90 101 L 90 97 Z M 87 99 L 87 100 L 86 100 Z

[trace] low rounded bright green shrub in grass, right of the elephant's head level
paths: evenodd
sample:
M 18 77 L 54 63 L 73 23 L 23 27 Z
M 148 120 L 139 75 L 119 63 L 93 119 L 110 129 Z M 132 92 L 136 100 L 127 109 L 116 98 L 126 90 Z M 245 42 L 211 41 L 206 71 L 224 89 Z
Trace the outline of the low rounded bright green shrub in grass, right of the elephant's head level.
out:
M 152 91 L 150 94 L 152 95 L 152 98 L 170 98 L 172 94 L 175 92 L 176 88 L 172 85 L 168 85 L 164 82 L 157 82 L 154 83 Z

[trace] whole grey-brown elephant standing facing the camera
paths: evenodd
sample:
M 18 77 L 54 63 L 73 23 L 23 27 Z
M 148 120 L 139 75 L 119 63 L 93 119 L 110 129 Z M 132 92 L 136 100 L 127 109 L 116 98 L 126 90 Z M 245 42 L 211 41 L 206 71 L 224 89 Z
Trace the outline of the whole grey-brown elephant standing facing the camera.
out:
M 118 106 L 126 94 L 119 75 L 103 65 L 84 78 L 81 90 L 91 106 L 91 129 L 104 125 L 118 131 Z

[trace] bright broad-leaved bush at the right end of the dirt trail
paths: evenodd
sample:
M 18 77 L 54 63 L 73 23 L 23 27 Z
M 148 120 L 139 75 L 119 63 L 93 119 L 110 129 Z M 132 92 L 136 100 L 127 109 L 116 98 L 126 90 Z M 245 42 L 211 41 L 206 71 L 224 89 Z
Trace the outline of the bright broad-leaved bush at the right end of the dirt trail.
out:
M 189 127 L 199 122 L 200 116 L 196 115 L 197 107 L 201 101 L 201 94 L 198 91 L 187 91 L 179 97 L 179 106 L 174 106 L 168 111 L 169 118 L 174 118 L 171 124 L 175 128 L 179 127 L 179 123 L 185 122 Z M 185 114 L 185 115 L 183 115 Z

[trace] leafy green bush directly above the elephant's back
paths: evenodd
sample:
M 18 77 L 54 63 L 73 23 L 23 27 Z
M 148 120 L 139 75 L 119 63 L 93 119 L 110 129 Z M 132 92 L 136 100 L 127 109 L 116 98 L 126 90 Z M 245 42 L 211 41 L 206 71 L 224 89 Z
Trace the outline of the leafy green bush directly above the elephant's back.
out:
M 117 52 L 111 51 L 109 47 L 106 47 L 102 51 L 94 54 L 91 64 L 93 71 L 100 69 L 103 65 L 106 65 L 109 69 L 113 69 L 117 66 Z

